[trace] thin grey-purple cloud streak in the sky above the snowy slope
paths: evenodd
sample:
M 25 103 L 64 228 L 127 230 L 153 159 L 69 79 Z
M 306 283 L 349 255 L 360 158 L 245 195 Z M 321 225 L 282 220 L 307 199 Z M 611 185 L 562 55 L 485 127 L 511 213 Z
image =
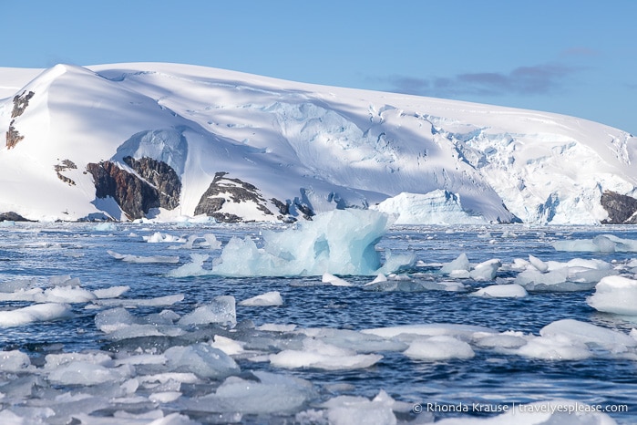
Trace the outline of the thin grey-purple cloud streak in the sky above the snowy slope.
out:
M 458 96 L 544 95 L 562 91 L 565 81 L 580 71 L 577 67 L 543 64 L 517 67 L 509 73 L 481 72 L 458 74 L 450 78 L 387 78 L 391 91 L 454 98 Z

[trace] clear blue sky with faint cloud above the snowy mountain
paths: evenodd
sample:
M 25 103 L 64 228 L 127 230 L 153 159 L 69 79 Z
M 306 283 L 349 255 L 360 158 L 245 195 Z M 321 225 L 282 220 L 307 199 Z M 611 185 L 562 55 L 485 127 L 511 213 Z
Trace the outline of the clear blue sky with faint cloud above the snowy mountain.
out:
M 0 67 L 176 62 L 637 134 L 637 0 L 0 0 Z

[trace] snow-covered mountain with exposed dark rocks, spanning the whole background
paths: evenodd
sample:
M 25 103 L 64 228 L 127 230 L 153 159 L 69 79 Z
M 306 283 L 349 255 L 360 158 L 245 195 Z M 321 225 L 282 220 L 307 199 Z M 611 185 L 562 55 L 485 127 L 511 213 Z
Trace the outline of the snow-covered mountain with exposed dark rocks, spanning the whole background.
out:
M 631 223 L 637 138 L 557 114 L 175 64 L 0 68 L 0 213 Z M 637 203 L 637 202 L 634 202 Z

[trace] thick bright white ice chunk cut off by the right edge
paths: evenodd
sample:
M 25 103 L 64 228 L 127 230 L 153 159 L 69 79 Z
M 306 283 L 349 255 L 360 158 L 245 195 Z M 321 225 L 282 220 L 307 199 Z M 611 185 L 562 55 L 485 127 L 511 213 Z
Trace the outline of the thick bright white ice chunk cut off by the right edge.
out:
M 595 293 L 586 302 L 598 311 L 637 316 L 637 280 L 608 276 L 595 285 Z

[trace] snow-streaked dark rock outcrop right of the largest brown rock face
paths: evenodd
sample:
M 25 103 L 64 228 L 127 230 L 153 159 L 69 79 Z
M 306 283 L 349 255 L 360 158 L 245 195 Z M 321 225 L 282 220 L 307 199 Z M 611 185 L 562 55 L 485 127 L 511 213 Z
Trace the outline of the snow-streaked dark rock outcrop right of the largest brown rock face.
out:
M 257 209 L 265 214 L 273 215 L 256 186 L 240 179 L 225 177 L 226 174 L 228 173 L 225 171 L 215 173 L 208 190 L 201 195 L 200 202 L 195 208 L 195 215 L 206 214 L 223 223 L 241 222 L 241 217 L 236 214 L 221 213 L 226 198 L 229 198 L 230 202 L 254 202 Z

